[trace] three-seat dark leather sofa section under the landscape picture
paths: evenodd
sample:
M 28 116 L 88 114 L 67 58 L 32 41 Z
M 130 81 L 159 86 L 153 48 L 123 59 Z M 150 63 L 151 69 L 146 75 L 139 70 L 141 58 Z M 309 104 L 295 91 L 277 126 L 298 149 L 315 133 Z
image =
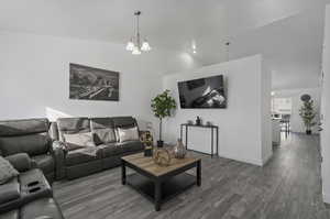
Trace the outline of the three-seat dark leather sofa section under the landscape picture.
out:
M 57 141 L 65 151 L 64 161 L 61 162 L 61 177 L 68 179 L 86 176 L 102 169 L 120 165 L 120 157 L 123 155 L 143 151 L 140 140 L 120 143 L 114 136 L 113 141 L 105 142 L 98 133 L 101 131 L 114 134 L 117 128 L 138 127 L 136 120 L 132 117 L 113 118 L 62 118 L 57 120 Z M 68 150 L 64 143 L 64 134 L 91 132 L 95 136 L 96 154 L 86 153 L 88 149 Z

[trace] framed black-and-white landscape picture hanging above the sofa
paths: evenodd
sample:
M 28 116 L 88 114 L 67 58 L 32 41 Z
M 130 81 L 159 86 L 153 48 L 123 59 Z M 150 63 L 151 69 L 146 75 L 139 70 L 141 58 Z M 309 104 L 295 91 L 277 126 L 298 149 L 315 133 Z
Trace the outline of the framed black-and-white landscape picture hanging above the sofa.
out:
M 69 98 L 119 100 L 119 73 L 70 63 Z

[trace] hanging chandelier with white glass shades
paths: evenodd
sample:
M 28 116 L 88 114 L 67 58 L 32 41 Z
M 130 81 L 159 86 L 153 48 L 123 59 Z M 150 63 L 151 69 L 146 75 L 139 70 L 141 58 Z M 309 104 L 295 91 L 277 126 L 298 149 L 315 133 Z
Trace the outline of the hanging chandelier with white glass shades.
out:
M 135 34 L 131 37 L 127 45 L 127 51 L 132 52 L 133 55 L 140 55 L 141 52 L 148 52 L 151 51 L 151 46 L 148 45 L 146 39 L 141 42 L 140 35 L 140 26 L 139 26 L 139 18 L 141 15 L 141 11 L 135 11 L 134 15 L 136 17 L 136 26 L 135 26 Z

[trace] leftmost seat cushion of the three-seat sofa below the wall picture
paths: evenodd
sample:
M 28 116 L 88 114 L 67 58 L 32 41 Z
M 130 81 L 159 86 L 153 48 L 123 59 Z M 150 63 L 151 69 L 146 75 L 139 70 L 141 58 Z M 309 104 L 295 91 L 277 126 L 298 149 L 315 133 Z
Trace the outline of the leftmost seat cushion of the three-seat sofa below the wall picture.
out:
M 78 165 L 87 163 L 102 157 L 101 149 L 95 147 L 95 154 L 91 154 L 89 149 L 78 149 L 69 151 L 65 157 L 65 164 L 67 166 Z

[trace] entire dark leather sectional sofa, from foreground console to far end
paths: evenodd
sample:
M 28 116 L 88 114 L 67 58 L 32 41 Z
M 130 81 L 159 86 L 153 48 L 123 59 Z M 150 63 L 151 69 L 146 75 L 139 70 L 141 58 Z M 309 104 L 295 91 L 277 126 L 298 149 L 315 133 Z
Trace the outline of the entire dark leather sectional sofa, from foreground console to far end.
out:
M 63 218 L 50 184 L 118 166 L 121 156 L 142 152 L 139 135 L 119 142 L 116 134 L 118 128 L 135 127 L 132 117 L 0 121 L 0 155 L 20 172 L 0 185 L 0 218 Z M 94 153 L 90 147 L 68 147 L 64 136 L 77 133 L 91 133 Z

